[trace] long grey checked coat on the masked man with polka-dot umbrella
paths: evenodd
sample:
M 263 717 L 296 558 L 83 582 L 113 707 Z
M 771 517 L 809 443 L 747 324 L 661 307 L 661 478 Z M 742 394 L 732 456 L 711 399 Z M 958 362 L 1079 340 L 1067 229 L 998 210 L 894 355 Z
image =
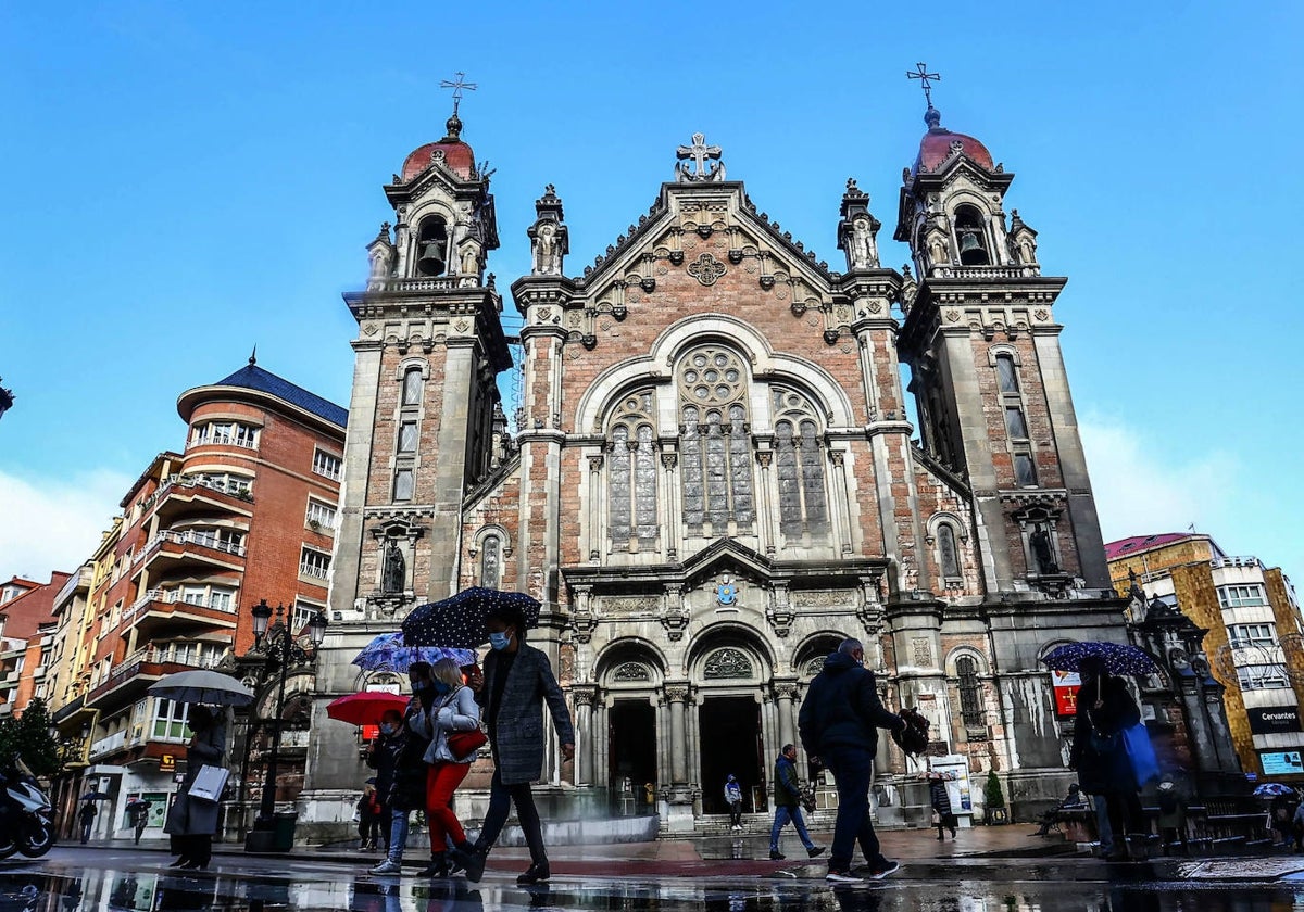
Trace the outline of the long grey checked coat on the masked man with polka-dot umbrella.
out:
M 489 653 L 485 658 L 485 683 L 476 694 L 486 722 L 493 718 L 490 704 L 498 664 L 498 653 Z M 544 775 L 544 701 L 553 714 L 557 737 L 562 744 L 574 744 L 570 709 L 548 655 L 520 644 L 503 685 L 497 723 L 490 731 L 494 766 L 505 786 L 536 782 Z

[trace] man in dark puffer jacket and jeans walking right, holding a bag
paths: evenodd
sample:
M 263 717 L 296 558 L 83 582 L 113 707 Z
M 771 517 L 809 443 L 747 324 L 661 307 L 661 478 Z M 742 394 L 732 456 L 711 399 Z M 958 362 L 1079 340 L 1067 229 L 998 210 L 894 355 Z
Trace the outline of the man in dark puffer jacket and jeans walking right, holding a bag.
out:
M 870 819 L 870 786 L 879 728 L 901 731 L 905 720 L 879 701 L 874 672 L 865 667 L 859 640 L 844 640 L 824 659 L 824 668 L 811 681 L 797 717 L 802 748 L 816 757 L 837 786 L 837 821 L 829 852 L 828 879 L 859 881 L 852 874 L 852 851 L 859 842 L 870 865 L 870 878 L 882 879 L 901 865 L 883 857 Z

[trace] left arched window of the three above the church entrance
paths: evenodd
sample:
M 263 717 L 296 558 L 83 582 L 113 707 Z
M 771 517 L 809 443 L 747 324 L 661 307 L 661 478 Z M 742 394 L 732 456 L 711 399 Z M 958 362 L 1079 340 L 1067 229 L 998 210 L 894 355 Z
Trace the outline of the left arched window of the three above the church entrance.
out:
M 656 541 L 656 444 L 652 431 L 651 390 L 626 396 L 612 423 L 608 521 L 612 541 Z

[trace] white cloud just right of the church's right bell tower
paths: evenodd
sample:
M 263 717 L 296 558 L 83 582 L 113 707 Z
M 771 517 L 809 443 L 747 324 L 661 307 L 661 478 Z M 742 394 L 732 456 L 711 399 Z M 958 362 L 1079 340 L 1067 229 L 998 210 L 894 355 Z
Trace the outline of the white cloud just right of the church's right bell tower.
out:
M 1227 529 L 1241 477 L 1237 460 L 1200 449 L 1200 438 L 1176 448 L 1114 417 L 1088 416 L 1080 425 L 1101 532 L 1111 542 L 1128 535 Z M 1206 438 L 1213 439 L 1213 438 Z

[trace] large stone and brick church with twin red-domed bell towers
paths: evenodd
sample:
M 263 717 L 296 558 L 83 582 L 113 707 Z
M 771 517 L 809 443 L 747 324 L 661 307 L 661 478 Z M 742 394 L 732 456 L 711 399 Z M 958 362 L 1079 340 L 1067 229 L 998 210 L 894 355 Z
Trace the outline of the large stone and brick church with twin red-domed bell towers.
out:
M 632 803 L 703 830 L 729 773 L 764 812 L 805 688 L 848 636 L 887 705 L 931 719 L 930 754 L 968 770 L 964 809 L 981 818 L 987 770 L 1016 810 L 1063 793 L 1071 720 L 1039 658 L 1127 641 L 1060 352 L 1067 280 L 1007 210 L 1013 173 L 931 104 L 926 122 L 901 270 L 854 180 L 828 201 L 829 266 L 702 134 L 582 270 L 549 185 L 507 305 L 520 367 L 489 173 L 456 112 L 407 156 L 366 288 L 344 296 L 359 335 L 305 823 L 343 826 L 365 775 L 325 702 L 400 683 L 353 653 L 468 585 L 542 602 L 531 642 L 578 730 L 574 762 L 550 748 L 557 814 Z M 887 814 L 922 766 L 883 741 Z

